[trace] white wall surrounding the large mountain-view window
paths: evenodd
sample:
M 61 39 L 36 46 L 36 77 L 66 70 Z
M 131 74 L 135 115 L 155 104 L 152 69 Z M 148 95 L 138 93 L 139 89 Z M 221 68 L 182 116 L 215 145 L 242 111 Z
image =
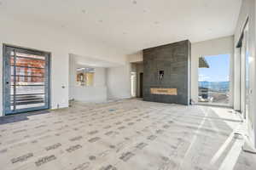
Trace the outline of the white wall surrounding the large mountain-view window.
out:
M 198 100 L 198 66 L 199 58 L 207 55 L 230 54 L 230 63 L 234 59 L 234 37 L 220 37 L 204 42 L 195 42 L 191 45 L 191 98 L 195 103 Z M 232 94 L 233 70 L 230 67 L 230 94 Z M 232 96 L 230 96 L 230 105 Z

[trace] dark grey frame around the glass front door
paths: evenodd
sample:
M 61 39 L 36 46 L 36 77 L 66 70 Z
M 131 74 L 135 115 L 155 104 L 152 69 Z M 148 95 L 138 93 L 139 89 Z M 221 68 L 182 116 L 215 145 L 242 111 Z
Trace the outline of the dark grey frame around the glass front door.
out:
M 29 50 L 29 51 L 32 51 L 33 53 L 44 53 L 44 54 L 47 54 L 48 55 L 48 105 L 47 107 L 44 107 L 42 109 L 38 108 L 37 110 L 34 110 L 34 111 L 41 111 L 41 110 L 48 110 L 51 108 L 51 53 L 48 52 L 48 51 L 43 51 L 43 50 L 38 50 L 38 49 L 35 49 L 35 48 L 24 48 L 24 47 L 21 47 L 21 46 L 17 46 L 17 45 L 13 45 L 13 44 L 9 44 L 9 43 L 3 43 L 3 73 L 6 69 L 6 65 L 4 64 L 6 62 L 6 57 L 8 57 L 6 55 L 6 48 L 20 48 L 21 50 Z M 7 75 L 3 74 L 3 77 L 2 77 L 2 80 L 3 80 L 3 90 L 2 90 L 2 93 L 3 93 L 3 116 L 9 116 L 9 115 L 15 115 L 15 114 L 20 114 L 22 112 L 28 112 L 26 111 L 26 109 L 20 109 L 20 111 L 17 111 L 15 113 L 9 113 L 7 114 L 5 112 L 5 105 L 6 105 L 6 93 L 5 93 L 5 77 Z

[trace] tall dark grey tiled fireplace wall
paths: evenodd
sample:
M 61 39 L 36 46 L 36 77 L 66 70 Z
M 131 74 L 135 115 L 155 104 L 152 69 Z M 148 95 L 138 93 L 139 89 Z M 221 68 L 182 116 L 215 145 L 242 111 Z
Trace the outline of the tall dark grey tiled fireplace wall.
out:
M 190 50 L 189 41 L 143 50 L 143 100 L 189 105 Z M 176 88 L 177 94 L 152 94 L 151 88 Z

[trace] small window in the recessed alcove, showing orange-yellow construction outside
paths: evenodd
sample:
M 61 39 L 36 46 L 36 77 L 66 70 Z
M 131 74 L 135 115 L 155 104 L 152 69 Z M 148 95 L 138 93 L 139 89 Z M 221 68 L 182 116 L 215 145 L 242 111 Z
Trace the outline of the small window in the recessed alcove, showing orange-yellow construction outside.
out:
M 78 68 L 77 69 L 77 84 L 79 86 L 93 86 L 94 83 L 94 68 Z

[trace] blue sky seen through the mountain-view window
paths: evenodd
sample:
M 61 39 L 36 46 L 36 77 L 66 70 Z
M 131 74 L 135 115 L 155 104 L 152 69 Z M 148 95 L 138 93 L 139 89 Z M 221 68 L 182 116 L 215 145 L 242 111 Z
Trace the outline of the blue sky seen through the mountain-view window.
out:
M 230 54 L 205 56 L 210 68 L 198 69 L 198 81 L 226 82 L 230 77 Z

